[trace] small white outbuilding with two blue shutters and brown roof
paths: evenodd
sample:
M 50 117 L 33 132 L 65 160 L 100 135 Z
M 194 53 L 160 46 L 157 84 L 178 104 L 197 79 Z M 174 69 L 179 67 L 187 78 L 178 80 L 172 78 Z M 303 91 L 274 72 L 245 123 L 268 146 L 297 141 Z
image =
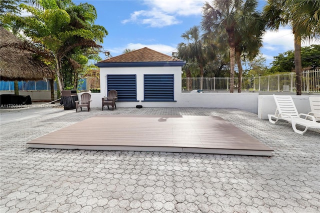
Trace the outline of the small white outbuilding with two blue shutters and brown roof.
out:
M 181 93 L 181 68 L 185 62 L 147 47 L 97 62 L 100 91 L 118 92 L 117 105 L 171 106 Z M 172 102 L 171 104 L 169 102 Z

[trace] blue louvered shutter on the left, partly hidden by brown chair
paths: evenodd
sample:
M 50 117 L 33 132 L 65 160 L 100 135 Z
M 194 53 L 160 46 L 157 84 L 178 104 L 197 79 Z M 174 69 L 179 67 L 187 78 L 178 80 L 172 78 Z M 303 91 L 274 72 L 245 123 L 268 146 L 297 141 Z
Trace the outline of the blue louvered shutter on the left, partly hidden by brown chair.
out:
M 136 101 L 135 74 L 108 74 L 106 75 L 107 90 L 118 92 L 118 101 Z

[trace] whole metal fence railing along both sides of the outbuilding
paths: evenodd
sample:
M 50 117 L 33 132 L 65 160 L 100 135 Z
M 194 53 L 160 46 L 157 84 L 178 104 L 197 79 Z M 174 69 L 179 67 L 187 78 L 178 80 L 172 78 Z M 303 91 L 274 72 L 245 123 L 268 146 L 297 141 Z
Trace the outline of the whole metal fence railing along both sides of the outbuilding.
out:
M 229 77 L 186 77 L 182 78 L 184 90 L 229 90 Z M 234 89 L 238 79 L 234 78 Z M 50 90 L 49 81 L 18 81 L 19 90 Z M 302 92 L 320 92 L 320 69 L 302 71 Z M 100 78 L 86 77 L 78 82 L 78 90 L 100 88 Z M 54 82 L 54 90 L 57 89 Z M 296 91 L 295 73 L 285 72 L 258 77 L 242 77 L 241 89 L 252 91 Z M 14 90 L 13 81 L 0 81 L 0 90 Z

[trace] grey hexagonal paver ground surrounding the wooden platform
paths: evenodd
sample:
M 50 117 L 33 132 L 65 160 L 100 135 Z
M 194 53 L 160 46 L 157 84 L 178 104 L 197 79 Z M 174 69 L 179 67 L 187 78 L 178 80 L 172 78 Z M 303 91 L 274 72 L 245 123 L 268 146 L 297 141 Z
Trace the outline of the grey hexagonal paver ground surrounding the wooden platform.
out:
M 262 157 L 26 145 L 100 114 L 217 115 L 274 151 Z M 318 130 L 299 135 L 285 122 L 213 108 L 1 109 L 0 119 L 1 213 L 320 212 Z

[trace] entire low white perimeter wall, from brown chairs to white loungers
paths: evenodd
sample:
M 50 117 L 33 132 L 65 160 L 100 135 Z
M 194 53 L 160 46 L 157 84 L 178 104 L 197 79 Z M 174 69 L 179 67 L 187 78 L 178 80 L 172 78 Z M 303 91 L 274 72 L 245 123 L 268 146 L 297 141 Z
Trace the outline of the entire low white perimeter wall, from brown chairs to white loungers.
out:
M 79 98 L 80 98 L 80 94 Z M 101 107 L 101 93 L 91 93 L 91 107 Z M 318 95 L 320 98 L 320 95 Z M 308 113 L 311 108 L 308 95 L 292 95 L 295 107 L 299 113 Z M 176 102 L 122 102 L 117 101 L 117 107 L 199 107 L 199 108 L 238 108 L 257 114 L 258 118 L 267 119 L 267 114 L 274 114 L 276 105 L 272 95 L 258 95 L 256 92 L 243 93 L 182 93 L 176 97 Z

